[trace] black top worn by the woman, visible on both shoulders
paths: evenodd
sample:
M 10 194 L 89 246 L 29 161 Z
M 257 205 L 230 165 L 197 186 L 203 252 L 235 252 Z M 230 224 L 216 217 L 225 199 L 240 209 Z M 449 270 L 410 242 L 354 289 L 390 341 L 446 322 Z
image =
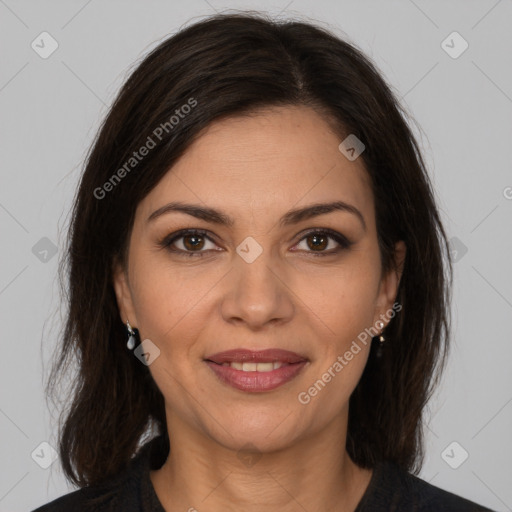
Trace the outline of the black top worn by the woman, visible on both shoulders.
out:
M 149 472 L 159 469 L 167 454 L 163 437 L 156 437 L 141 447 L 129 467 L 116 478 L 101 486 L 66 494 L 33 512 L 165 512 Z M 370 484 L 354 512 L 445 511 L 493 512 L 435 487 L 391 462 L 381 462 L 374 467 Z

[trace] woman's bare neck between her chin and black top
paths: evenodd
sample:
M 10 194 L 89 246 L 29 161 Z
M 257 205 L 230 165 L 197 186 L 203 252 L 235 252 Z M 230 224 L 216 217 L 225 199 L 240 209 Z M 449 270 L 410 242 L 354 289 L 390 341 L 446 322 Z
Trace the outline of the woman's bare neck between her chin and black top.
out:
M 169 456 L 150 474 L 168 512 L 353 512 L 370 482 L 371 470 L 355 465 L 344 449 L 343 418 L 265 453 L 226 448 L 177 418 L 169 420 Z

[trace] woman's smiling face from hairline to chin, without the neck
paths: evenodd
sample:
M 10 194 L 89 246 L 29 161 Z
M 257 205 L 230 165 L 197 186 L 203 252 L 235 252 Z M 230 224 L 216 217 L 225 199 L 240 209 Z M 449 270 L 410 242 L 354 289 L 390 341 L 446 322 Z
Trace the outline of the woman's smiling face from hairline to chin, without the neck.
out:
M 399 276 L 381 275 L 369 177 L 340 142 L 305 107 L 226 119 L 138 205 L 115 289 L 123 322 L 160 351 L 149 370 L 176 438 L 186 428 L 264 451 L 346 424 L 370 348 L 361 333 L 387 323 Z M 217 215 L 160 210 L 175 202 Z M 290 214 L 333 202 L 350 209 Z M 184 229 L 205 234 L 171 241 Z M 267 372 L 207 361 L 232 349 L 282 349 L 303 362 Z

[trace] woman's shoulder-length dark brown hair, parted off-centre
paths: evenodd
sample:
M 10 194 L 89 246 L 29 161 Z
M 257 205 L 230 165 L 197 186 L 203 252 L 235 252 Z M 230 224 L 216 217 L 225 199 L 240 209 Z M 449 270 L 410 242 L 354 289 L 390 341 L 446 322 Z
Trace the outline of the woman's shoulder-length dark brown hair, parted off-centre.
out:
M 171 128 L 191 98 L 197 105 Z M 394 243 L 407 246 L 396 297 L 402 310 L 386 329 L 380 359 L 372 346 L 350 398 L 347 450 L 362 467 L 385 459 L 421 469 L 424 409 L 447 355 L 452 266 L 410 116 L 354 44 L 311 23 L 246 12 L 197 22 L 151 51 L 87 155 L 60 263 L 67 317 L 48 385 L 54 393 L 77 363 L 59 430 L 63 469 L 75 484 L 117 474 L 150 426 L 167 433 L 163 396 L 126 349 L 112 283 L 113 263 L 126 263 L 138 203 L 212 122 L 291 105 L 320 112 L 340 142 L 354 134 L 365 144 L 360 158 L 371 177 L 383 271 L 392 268 Z M 118 173 L 166 122 L 156 147 Z M 113 181 L 116 173 L 122 180 Z

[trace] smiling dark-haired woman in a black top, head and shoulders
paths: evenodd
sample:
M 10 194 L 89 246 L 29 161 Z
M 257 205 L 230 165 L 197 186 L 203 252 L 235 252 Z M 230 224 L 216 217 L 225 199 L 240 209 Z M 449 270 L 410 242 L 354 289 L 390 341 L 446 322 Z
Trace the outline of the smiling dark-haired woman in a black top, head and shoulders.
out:
M 249 14 L 164 41 L 74 203 L 51 382 L 76 355 L 60 457 L 80 490 L 37 510 L 489 510 L 415 476 L 448 254 L 358 49 Z

